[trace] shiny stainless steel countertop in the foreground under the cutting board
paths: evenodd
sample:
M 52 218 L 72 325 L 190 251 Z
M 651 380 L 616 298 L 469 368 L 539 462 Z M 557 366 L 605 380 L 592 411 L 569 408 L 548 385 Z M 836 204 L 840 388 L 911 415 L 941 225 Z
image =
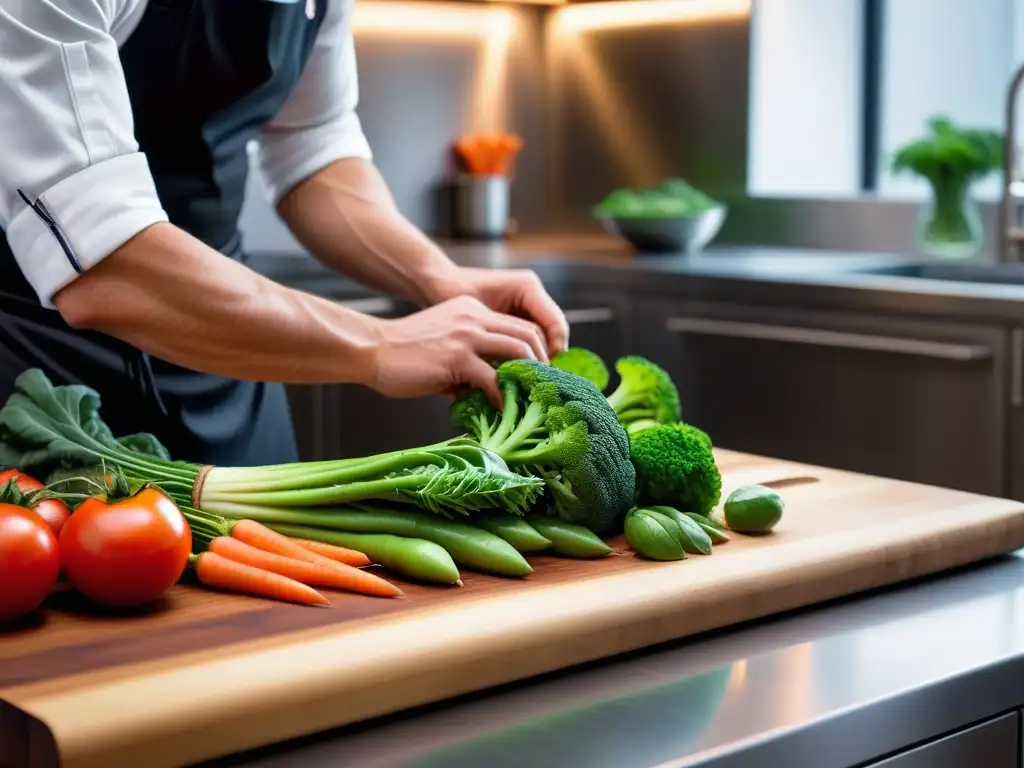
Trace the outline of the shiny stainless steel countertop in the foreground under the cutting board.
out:
M 1018 553 L 226 764 L 847 768 L 1022 700 Z

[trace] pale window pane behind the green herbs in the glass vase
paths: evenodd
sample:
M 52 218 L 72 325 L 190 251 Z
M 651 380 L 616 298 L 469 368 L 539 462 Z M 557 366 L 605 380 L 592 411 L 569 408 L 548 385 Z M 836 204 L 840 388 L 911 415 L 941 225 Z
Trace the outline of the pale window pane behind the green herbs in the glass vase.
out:
M 769 0 L 770 2 L 771 0 Z M 901 144 L 923 134 L 937 114 L 956 123 L 1002 130 L 1004 102 L 1024 40 L 1021 0 L 888 0 L 882 58 L 879 194 L 919 199 L 927 186 L 889 172 Z M 977 187 L 998 196 L 993 174 Z

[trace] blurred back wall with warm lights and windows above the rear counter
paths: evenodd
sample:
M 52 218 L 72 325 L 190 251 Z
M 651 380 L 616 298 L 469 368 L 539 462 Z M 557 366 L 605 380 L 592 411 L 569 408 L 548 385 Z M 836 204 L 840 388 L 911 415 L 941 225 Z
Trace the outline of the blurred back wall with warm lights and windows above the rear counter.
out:
M 617 186 L 678 175 L 719 243 L 913 252 L 927 185 L 888 168 L 943 114 L 1000 129 L 1019 0 L 360 0 L 359 114 L 402 211 L 443 236 L 451 143 L 513 131 L 520 232 L 593 233 Z M 295 253 L 250 181 L 247 246 Z M 979 184 L 997 243 L 999 179 Z

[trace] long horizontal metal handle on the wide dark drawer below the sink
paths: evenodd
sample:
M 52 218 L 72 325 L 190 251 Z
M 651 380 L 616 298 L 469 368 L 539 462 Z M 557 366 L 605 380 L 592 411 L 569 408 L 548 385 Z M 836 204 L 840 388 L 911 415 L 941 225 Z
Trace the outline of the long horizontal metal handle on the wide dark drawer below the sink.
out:
M 909 354 L 943 360 L 983 360 L 992 356 L 984 344 L 953 344 L 943 341 L 902 339 L 897 336 L 874 336 L 840 331 L 819 331 L 790 326 L 762 326 L 756 323 L 707 319 L 703 317 L 670 317 L 666 329 L 672 333 L 694 333 L 705 336 L 728 336 L 736 339 L 761 339 L 790 344 L 808 344 L 843 349 Z

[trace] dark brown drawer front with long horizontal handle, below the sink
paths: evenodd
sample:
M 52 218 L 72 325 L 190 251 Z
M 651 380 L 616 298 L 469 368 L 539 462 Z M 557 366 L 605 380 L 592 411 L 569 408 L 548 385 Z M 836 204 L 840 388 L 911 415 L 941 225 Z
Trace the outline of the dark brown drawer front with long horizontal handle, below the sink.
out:
M 718 445 L 1005 494 L 999 328 L 664 299 L 636 324 Z

